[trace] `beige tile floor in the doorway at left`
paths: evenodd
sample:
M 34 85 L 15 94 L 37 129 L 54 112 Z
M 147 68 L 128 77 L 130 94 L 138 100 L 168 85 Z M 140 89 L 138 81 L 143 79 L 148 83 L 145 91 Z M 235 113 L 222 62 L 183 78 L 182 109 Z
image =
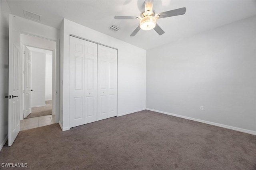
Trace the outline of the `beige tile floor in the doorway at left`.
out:
M 51 125 L 54 123 L 55 123 L 55 115 L 46 115 L 46 116 L 23 119 L 20 121 L 20 131 L 33 129 L 36 127 L 42 127 L 46 125 Z

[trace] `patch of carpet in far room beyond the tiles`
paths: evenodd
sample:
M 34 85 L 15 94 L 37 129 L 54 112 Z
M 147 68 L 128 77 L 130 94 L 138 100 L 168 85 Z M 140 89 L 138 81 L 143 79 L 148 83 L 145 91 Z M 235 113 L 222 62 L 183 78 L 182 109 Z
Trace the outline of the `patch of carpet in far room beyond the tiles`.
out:
M 45 101 L 45 106 L 42 107 L 32 107 L 32 112 L 26 117 L 39 117 L 39 116 L 45 116 L 45 115 L 51 115 L 52 114 L 52 100 Z

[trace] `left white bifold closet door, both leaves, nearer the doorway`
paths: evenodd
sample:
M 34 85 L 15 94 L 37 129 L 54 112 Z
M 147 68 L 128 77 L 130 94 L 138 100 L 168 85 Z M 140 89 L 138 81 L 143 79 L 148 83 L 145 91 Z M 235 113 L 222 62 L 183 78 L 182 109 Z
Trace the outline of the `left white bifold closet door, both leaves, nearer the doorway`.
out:
M 70 36 L 70 127 L 97 121 L 97 44 Z

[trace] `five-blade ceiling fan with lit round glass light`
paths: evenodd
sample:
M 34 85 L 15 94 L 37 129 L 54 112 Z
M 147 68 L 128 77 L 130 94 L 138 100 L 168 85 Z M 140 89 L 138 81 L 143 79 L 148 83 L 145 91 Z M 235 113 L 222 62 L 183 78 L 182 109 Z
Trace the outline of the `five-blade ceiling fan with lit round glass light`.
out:
M 140 20 L 140 25 L 132 32 L 130 35 L 133 37 L 142 30 L 150 30 L 154 29 L 159 35 L 162 35 L 164 33 L 164 30 L 162 30 L 161 27 L 156 23 L 157 19 L 160 18 L 166 18 L 166 17 L 172 17 L 172 16 L 179 16 L 186 13 L 186 8 L 178 8 L 176 10 L 170 10 L 166 12 L 161 12 L 159 14 L 156 14 L 153 10 L 153 0 L 145 0 L 145 12 L 142 12 L 140 16 L 133 17 L 133 16 L 115 16 L 115 19 L 117 20 Z

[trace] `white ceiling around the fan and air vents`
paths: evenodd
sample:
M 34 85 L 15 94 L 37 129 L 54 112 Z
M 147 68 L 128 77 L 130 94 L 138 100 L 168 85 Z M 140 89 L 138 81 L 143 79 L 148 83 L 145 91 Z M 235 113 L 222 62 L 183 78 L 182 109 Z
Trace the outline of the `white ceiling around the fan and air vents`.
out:
M 143 4 L 144 1 L 140 0 L 8 1 L 12 14 L 16 16 L 24 18 L 23 10 L 27 10 L 41 15 L 42 24 L 55 28 L 59 28 L 63 18 L 66 18 L 142 49 L 158 47 L 256 16 L 255 0 L 155 0 L 153 9 L 156 13 L 186 7 L 186 14 L 158 19 L 158 25 L 165 31 L 163 35 L 158 35 L 154 30 L 140 30 L 135 37 L 130 37 L 139 20 L 114 20 L 114 16 L 140 16 Z M 110 30 L 112 24 L 121 29 L 117 32 Z

